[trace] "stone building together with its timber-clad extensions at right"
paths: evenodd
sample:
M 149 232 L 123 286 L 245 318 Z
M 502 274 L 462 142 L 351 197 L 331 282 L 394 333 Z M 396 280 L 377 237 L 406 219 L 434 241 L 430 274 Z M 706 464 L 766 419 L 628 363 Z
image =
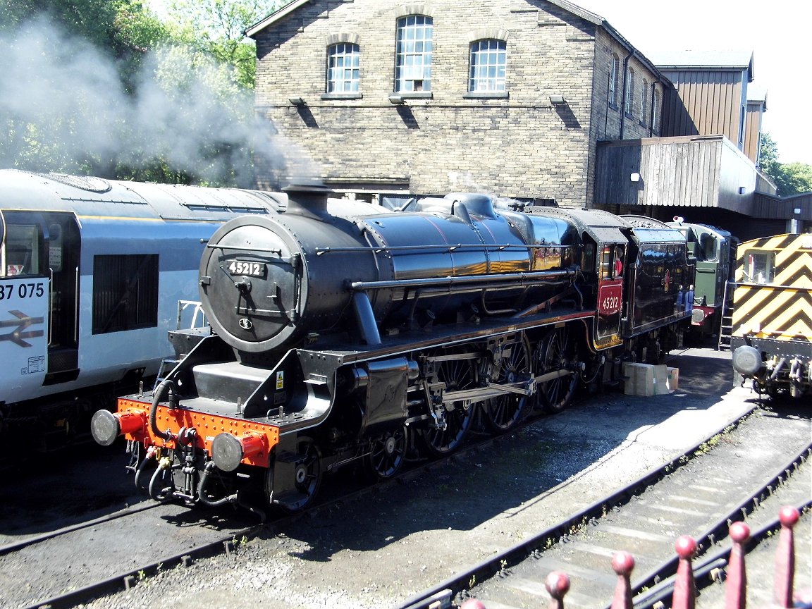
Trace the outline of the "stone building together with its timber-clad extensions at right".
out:
M 258 188 L 490 192 L 743 238 L 812 225 L 756 166 L 750 52 L 652 61 L 566 0 L 292 0 L 247 33 L 274 132 Z

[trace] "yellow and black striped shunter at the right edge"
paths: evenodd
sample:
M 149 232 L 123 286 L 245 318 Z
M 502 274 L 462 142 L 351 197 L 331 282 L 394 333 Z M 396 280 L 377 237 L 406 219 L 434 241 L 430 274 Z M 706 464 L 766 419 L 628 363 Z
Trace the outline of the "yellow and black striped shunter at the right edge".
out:
M 759 393 L 812 393 L 812 235 L 739 246 L 731 348 L 733 369 Z

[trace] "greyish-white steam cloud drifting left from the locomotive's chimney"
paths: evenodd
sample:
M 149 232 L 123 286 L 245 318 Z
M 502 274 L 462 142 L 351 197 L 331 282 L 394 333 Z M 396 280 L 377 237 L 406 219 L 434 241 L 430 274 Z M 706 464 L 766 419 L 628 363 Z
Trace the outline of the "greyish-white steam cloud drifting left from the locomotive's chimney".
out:
M 247 188 L 253 153 L 270 172 L 270 186 L 292 173 L 296 147 L 255 117 L 253 93 L 231 84 L 230 67 L 203 63 L 200 54 L 179 47 L 150 53 L 130 95 L 110 57 L 47 19 L 6 32 L 0 48 L 0 167 L 90 168 L 109 177 L 119 164 L 162 158 L 175 171 Z M 317 175 L 304 156 L 296 153 L 293 172 L 305 166 Z

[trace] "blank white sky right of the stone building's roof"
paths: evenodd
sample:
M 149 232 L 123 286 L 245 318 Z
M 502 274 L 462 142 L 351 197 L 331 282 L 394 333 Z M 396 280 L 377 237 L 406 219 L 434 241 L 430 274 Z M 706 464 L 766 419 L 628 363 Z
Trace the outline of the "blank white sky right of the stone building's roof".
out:
M 642 54 L 658 50 L 753 52 L 754 80 L 767 91 L 762 132 L 779 161 L 812 165 L 809 0 L 570 0 L 606 19 Z

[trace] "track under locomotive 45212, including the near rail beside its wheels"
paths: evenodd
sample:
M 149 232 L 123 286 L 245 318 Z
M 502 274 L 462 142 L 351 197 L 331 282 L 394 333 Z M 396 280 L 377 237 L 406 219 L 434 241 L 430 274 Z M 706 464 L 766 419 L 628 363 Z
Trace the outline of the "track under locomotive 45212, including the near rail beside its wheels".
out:
M 93 598 L 130 590 L 139 581 L 162 570 L 188 565 L 222 553 L 260 533 L 283 531 L 297 520 L 364 495 L 381 492 L 419 477 L 430 470 L 464 458 L 467 453 L 486 450 L 499 437 L 474 439 L 462 450 L 443 459 L 422 461 L 397 476 L 374 484 L 357 486 L 322 499 L 309 510 L 290 516 L 276 516 L 258 522 L 255 513 L 232 512 L 222 517 L 222 508 L 189 510 L 176 503 L 140 503 L 106 516 L 68 525 L 61 529 L 19 539 L 0 546 L 0 573 L 17 569 L 37 572 L 37 586 L 6 585 L 0 575 L 0 607 L 60 609 L 75 607 Z M 345 487 L 346 488 L 346 487 Z M 233 514 L 239 516 L 233 516 Z M 131 538 L 138 538 L 133 552 Z M 81 546 L 84 559 L 76 562 L 71 548 Z M 95 558 L 93 558 L 95 557 Z

